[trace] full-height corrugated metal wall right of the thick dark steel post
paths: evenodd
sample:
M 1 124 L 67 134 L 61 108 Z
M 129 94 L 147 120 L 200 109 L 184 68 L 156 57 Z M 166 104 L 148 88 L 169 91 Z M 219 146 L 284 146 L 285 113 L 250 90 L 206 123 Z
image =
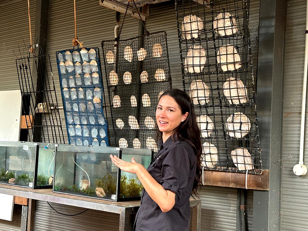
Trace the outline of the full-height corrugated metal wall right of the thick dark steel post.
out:
M 306 1 L 288 0 L 286 56 L 283 100 L 281 230 L 307 230 L 308 184 L 306 176 L 296 176 L 299 161 L 302 84 L 305 51 Z M 308 101 L 307 101 L 308 102 Z M 306 112 L 308 107 L 306 107 Z M 304 164 L 308 161 L 308 119 L 306 115 Z

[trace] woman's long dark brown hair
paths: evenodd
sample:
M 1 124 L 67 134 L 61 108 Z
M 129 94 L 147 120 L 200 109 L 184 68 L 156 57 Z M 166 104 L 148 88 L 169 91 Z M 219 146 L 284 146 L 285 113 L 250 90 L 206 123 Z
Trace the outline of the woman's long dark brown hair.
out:
M 182 114 L 188 112 L 188 116 L 184 122 L 181 122 L 180 125 L 174 129 L 172 134 L 172 140 L 185 140 L 188 142 L 194 150 L 197 162 L 195 179 L 193 182 L 193 193 L 198 197 L 197 188 L 198 184 L 201 184 L 201 153 L 202 153 L 202 144 L 200 138 L 200 129 L 197 124 L 196 114 L 193 108 L 193 103 L 190 97 L 179 89 L 171 89 L 165 91 L 161 96 L 168 95 L 172 97 L 176 103 L 179 105 Z M 162 138 L 162 132 L 159 131 L 156 125 L 157 139 Z

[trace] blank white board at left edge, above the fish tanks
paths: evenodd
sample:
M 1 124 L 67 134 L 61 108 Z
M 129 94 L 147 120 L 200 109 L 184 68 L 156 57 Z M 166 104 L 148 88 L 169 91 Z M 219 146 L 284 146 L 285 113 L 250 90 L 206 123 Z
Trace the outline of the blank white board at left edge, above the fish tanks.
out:
M 19 141 L 21 109 L 20 90 L 0 91 L 0 140 Z

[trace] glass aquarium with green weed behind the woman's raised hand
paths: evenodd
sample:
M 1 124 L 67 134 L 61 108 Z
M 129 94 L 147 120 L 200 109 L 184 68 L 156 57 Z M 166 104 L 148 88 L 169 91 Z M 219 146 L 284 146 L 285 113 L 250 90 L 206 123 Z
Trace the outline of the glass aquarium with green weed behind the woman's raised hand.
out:
M 151 149 L 89 147 L 59 144 L 55 148 L 53 192 L 111 201 L 140 200 L 142 185 L 136 174 L 121 171 L 110 155 L 147 168 Z

